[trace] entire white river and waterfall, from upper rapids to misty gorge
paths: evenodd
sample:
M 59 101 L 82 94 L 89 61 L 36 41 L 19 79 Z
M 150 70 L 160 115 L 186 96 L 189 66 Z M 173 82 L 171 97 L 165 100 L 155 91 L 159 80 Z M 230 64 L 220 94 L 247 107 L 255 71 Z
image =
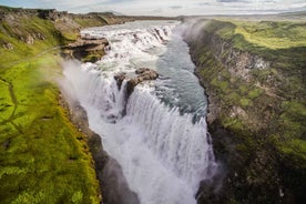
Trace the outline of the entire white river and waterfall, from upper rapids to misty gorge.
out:
M 67 90 L 88 112 L 90 128 L 120 165 L 142 204 L 195 204 L 200 181 L 212 176 L 214 155 L 205 122 L 206 98 L 176 21 L 136 21 L 83 30 L 110 42 L 96 63 L 67 63 Z M 136 68 L 161 75 L 126 98 Z

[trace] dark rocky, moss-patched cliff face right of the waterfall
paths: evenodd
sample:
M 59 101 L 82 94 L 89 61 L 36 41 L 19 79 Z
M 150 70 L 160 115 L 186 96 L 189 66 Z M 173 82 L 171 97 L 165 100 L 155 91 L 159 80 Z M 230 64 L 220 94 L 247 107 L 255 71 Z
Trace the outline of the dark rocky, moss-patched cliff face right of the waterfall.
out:
M 282 64 L 284 55 L 306 49 L 256 48 L 236 28 L 211 21 L 198 38 L 186 38 L 208 95 L 208 129 L 223 166 L 214 181 L 203 182 L 198 203 L 303 203 L 306 64 Z

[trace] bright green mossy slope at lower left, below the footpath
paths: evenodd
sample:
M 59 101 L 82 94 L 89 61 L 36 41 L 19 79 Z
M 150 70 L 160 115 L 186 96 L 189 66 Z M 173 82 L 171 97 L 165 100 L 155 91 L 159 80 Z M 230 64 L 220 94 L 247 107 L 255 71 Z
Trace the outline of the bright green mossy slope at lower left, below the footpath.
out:
M 3 115 L 0 125 L 9 130 L 1 134 L 7 147 L 0 149 L 3 203 L 99 203 L 92 159 L 84 140 L 76 140 L 83 135 L 59 105 L 55 85 L 41 75 L 58 68 L 57 60 L 47 54 L 1 74 L 17 99 L 13 116 Z

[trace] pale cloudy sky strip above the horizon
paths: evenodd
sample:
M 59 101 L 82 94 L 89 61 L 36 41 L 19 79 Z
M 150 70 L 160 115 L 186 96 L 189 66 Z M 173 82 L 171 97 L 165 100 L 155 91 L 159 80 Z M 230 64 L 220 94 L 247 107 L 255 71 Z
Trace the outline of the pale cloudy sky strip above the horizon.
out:
M 0 4 L 73 13 L 116 11 L 134 16 L 255 14 L 306 10 L 306 0 L 0 0 Z

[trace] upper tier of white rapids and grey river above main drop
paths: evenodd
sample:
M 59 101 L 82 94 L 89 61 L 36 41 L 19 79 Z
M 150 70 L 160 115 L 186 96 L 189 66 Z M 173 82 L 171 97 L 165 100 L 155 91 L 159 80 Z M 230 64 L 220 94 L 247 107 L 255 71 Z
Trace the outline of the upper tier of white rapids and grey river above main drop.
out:
M 112 78 L 124 72 L 134 76 L 137 68 L 155 70 L 160 78 L 152 84 L 154 94 L 171 108 L 178 108 L 181 114 L 192 113 L 198 121 L 206 115 L 206 98 L 193 74 L 194 64 L 188 47 L 181 37 L 176 21 L 136 21 L 120 26 L 91 28 L 83 35 L 106 38 L 110 45 L 106 55 L 88 69 L 103 70 Z

